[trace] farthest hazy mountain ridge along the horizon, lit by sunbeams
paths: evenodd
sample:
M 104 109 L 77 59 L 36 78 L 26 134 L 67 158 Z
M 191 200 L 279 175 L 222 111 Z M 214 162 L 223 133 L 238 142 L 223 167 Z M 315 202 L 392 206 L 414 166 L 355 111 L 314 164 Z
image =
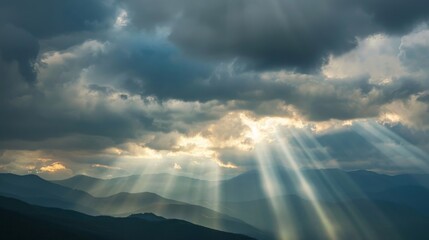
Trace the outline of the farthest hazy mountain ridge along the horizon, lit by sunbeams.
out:
M 282 186 L 277 196 L 298 195 L 305 198 L 302 188 L 291 170 L 273 169 Z M 429 188 L 428 174 L 404 174 L 389 176 L 370 171 L 346 172 L 339 169 L 303 170 L 303 175 L 314 187 L 320 200 L 342 201 L 363 198 L 367 193 L 385 191 L 400 186 L 422 186 Z M 168 181 L 174 179 L 170 188 Z M 97 179 L 87 176 L 75 176 L 55 183 L 79 189 L 94 196 L 110 196 L 120 192 L 153 192 L 161 196 L 185 202 L 204 204 L 213 199 L 213 193 L 222 201 L 249 201 L 265 197 L 260 173 L 256 170 L 237 177 L 210 182 L 169 174 L 148 176 L 130 176 L 113 179 Z M 171 182 L 170 182 L 171 183 Z M 209 205 L 209 204 L 208 204 Z

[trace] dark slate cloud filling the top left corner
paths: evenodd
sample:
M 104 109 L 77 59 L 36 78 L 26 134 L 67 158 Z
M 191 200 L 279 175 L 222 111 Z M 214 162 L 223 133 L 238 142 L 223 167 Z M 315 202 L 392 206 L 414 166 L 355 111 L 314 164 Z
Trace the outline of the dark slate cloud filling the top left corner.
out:
M 34 82 L 40 39 L 106 28 L 115 11 L 112 3 L 99 0 L 1 0 L 1 57 L 16 61 L 21 75 Z

